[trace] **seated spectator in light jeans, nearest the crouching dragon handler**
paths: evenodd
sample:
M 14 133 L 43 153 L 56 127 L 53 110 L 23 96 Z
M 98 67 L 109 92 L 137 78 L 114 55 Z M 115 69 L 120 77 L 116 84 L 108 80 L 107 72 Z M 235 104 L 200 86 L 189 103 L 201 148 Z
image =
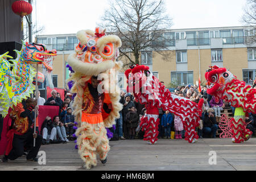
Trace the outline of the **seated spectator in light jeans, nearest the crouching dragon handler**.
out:
M 57 139 L 57 129 L 48 115 L 41 127 L 41 134 L 43 136 L 42 144 L 53 143 L 53 140 Z

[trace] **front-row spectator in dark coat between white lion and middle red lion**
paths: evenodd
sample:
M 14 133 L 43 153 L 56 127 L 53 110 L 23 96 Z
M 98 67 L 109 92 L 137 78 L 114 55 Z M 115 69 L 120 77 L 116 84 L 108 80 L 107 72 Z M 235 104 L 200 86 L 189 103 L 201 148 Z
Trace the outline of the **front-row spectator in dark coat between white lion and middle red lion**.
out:
M 134 139 L 135 134 L 136 134 L 135 130 L 138 126 L 139 117 L 138 117 L 137 111 L 135 109 L 135 106 L 132 106 L 130 109 L 131 109 L 131 111 L 129 111 L 126 114 L 125 120 L 127 123 L 127 128 L 129 129 L 129 138 Z

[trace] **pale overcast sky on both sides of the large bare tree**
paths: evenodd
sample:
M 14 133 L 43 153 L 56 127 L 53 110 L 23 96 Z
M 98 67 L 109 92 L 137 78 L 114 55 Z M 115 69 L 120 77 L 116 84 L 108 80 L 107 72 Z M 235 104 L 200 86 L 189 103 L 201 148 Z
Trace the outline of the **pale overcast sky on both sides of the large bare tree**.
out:
M 245 3 L 246 0 L 166 0 L 166 13 L 173 19 L 174 29 L 243 26 Z M 33 23 L 44 26 L 40 35 L 94 30 L 108 8 L 107 0 L 34 0 L 32 5 Z

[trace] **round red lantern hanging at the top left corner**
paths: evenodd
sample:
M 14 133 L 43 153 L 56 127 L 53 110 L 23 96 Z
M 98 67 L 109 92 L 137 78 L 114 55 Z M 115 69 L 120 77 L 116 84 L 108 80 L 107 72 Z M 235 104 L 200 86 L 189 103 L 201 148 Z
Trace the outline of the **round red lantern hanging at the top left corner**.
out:
M 11 5 L 11 9 L 13 12 L 20 17 L 29 15 L 32 13 L 32 5 L 26 1 L 15 1 L 13 5 Z

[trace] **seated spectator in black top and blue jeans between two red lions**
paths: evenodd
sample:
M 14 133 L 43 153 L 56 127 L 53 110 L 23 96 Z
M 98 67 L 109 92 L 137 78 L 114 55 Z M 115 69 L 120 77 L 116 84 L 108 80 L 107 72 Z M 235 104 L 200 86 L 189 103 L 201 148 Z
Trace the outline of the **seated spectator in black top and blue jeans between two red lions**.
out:
M 205 113 L 204 120 L 203 120 L 204 138 L 205 138 L 205 135 L 210 135 L 210 134 L 212 134 L 213 138 L 216 138 L 217 129 L 218 129 L 218 125 L 216 122 L 214 110 L 212 108 L 209 108 L 207 110 L 207 113 Z

